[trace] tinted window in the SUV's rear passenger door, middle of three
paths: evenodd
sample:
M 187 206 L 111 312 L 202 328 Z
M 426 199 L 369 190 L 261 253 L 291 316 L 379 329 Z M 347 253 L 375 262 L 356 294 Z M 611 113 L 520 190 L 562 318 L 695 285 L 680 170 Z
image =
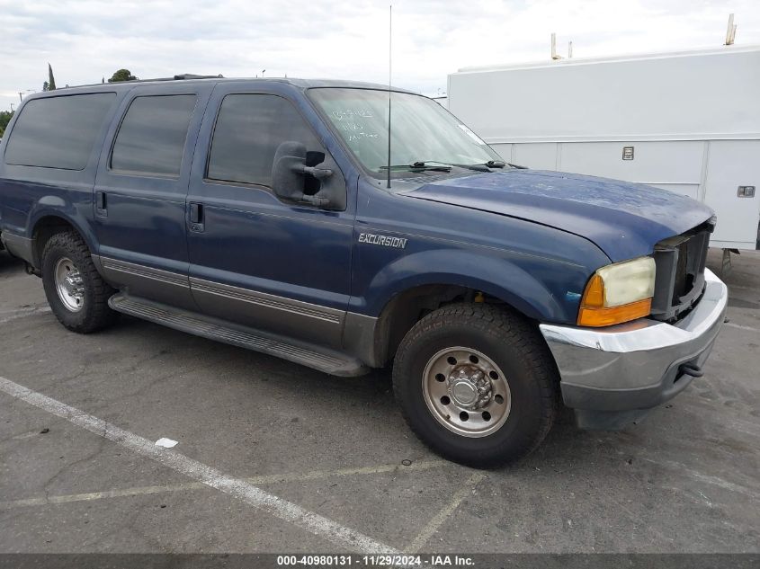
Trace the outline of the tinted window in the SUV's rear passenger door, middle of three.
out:
M 137 97 L 113 144 L 113 170 L 178 176 L 195 95 Z

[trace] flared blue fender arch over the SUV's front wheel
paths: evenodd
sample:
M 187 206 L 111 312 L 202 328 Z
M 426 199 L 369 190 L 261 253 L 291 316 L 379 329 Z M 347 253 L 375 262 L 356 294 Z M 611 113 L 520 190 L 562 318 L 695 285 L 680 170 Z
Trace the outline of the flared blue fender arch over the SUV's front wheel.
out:
M 399 293 L 443 284 L 480 290 L 541 322 L 569 322 L 576 319 L 587 271 L 580 265 L 487 248 L 423 251 L 386 264 L 371 279 L 363 306 L 354 308 L 379 316 Z

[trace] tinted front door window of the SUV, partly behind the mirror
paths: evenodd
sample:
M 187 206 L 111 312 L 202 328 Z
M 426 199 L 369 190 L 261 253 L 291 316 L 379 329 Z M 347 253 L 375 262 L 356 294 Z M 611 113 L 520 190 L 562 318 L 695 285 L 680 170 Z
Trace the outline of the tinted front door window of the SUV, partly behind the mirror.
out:
M 292 140 L 308 150 L 322 145 L 295 107 L 276 95 L 230 94 L 221 103 L 207 178 L 272 186 L 274 153 Z

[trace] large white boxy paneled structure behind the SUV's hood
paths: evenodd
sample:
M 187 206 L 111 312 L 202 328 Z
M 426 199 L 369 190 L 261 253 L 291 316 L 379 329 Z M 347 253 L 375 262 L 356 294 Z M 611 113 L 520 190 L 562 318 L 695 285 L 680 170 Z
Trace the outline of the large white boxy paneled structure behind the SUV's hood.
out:
M 507 162 L 684 193 L 718 214 L 712 246 L 756 248 L 760 47 L 467 67 L 447 94 Z

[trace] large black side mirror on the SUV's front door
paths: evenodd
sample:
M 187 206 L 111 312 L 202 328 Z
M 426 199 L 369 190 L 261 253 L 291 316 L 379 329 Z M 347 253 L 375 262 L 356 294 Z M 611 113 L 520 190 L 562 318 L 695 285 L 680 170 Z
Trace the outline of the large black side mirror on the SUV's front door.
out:
M 317 191 L 314 195 L 304 193 L 306 174 L 317 180 L 324 180 L 333 175 L 333 171 L 327 168 L 317 168 L 306 165 L 306 147 L 300 142 L 283 142 L 274 153 L 272 165 L 272 189 L 274 194 L 288 201 L 305 201 L 324 208 L 330 200 L 320 196 Z

